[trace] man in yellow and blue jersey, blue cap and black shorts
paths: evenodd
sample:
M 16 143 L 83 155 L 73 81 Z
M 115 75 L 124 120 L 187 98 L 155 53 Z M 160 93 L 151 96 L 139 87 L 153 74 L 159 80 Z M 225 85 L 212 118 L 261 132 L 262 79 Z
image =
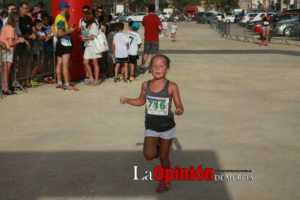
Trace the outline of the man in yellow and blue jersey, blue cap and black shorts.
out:
M 71 33 L 75 30 L 75 24 L 72 24 L 69 28 L 67 20 L 65 18 L 66 13 L 69 12 L 70 5 L 67 2 L 59 2 L 59 14 L 55 18 L 55 32 L 57 34 L 56 42 L 56 75 L 57 85 L 56 89 L 64 89 L 64 91 L 78 90 L 78 87 L 70 85 L 69 83 L 69 60 L 72 54 L 73 45 Z M 61 65 L 62 74 L 64 76 L 64 84 L 61 81 Z

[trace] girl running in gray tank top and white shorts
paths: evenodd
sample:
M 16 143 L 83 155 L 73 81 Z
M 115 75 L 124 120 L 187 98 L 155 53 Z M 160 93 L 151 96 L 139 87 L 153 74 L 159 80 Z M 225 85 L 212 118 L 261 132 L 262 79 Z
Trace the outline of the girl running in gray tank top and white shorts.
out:
M 170 70 L 170 59 L 162 54 L 155 55 L 150 62 L 151 73 L 154 79 L 142 84 L 139 98 L 130 99 L 120 97 L 121 104 L 142 106 L 146 103 L 144 156 L 147 160 L 158 158 L 161 166 L 170 168 L 169 152 L 172 138 L 176 135 L 174 114 L 182 115 L 183 106 L 176 83 L 166 78 Z M 171 111 L 172 98 L 176 110 Z M 170 182 L 161 180 L 157 192 L 167 192 Z

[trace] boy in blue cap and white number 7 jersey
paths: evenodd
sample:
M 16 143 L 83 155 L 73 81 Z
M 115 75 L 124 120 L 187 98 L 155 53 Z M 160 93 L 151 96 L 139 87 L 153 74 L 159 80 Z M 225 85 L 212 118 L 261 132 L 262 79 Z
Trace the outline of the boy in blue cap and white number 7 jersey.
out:
M 129 39 L 128 57 L 130 62 L 130 80 L 138 80 L 134 77 L 134 72 L 137 71 L 137 56 L 139 48 L 142 46 L 142 38 L 137 32 L 140 28 L 140 24 L 138 22 L 129 23 L 128 26 L 130 29 L 132 28 L 132 30 L 127 33 Z

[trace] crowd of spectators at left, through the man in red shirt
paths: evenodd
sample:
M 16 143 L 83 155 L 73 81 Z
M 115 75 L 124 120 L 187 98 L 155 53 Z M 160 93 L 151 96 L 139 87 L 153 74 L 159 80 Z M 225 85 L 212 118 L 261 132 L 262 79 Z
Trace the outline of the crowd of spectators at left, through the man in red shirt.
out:
M 22 88 L 40 86 L 42 84 L 40 77 L 37 78 L 40 74 L 44 76 L 44 82 L 55 83 L 54 74 L 51 74 L 54 72 L 54 62 L 56 89 L 64 91 L 79 89 L 69 83 L 69 70 L 72 70 L 69 66 L 74 49 L 71 33 L 76 27 L 76 24 L 68 24 L 71 5 L 59 2 L 59 14 L 55 18 L 44 11 L 43 7 L 43 2 L 34 7 L 26 2 L 20 2 L 18 5 L 7 4 L 7 9 L 1 12 L 2 90 L 6 95 L 15 94 L 16 90 Z M 149 14 L 152 15 L 145 17 L 145 22 L 143 20 L 142 23 L 145 26 L 146 54 L 142 58 L 140 73 L 145 72 L 144 65 L 148 55 L 152 53 L 153 57 L 158 54 L 158 32 L 162 30 L 162 24 L 154 15 L 154 10 L 155 6 L 150 5 Z M 94 12 L 88 5 L 82 7 L 78 35 L 82 41 L 81 50 L 86 74 L 80 82 L 85 85 L 99 85 L 99 76 L 105 76 L 116 83 L 121 80 L 125 83 L 138 80 L 137 60 L 142 45 L 141 36 L 137 32 L 140 24 L 129 22 L 129 31 L 124 34 L 124 23 L 111 21 L 112 15 L 105 13 L 101 6 Z M 99 41 L 107 42 L 106 51 L 96 50 Z M 18 68 L 18 74 L 14 74 L 15 66 Z M 39 67 L 43 68 L 43 73 L 38 72 Z M 19 77 L 20 87 L 14 84 L 16 75 Z

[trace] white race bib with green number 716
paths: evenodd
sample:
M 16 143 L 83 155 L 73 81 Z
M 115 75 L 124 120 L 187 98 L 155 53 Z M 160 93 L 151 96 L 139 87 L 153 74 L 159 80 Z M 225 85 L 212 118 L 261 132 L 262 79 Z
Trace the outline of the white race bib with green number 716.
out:
M 158 98 L 147 96 L 146 97 L 147 113 L 151 115 L 168 115 L 169 97 Z

